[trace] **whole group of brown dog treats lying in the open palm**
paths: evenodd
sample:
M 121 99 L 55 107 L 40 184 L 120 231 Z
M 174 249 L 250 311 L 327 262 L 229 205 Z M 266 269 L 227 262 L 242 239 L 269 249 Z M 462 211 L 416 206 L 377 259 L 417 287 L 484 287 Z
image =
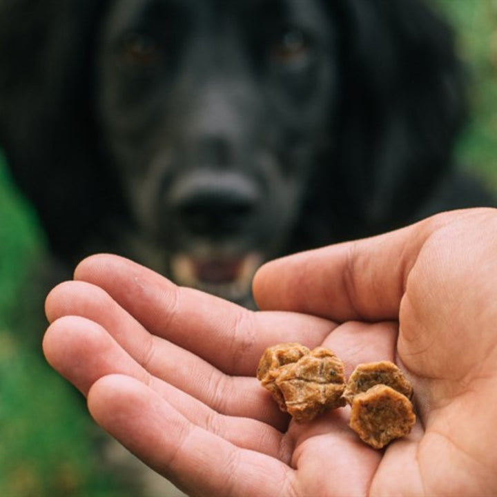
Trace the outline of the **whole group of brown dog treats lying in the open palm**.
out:
M 407 435 L 416 422 L 412 386 L 393 362 L 359 364 L 346 385 L 344 364 L 332 351 L 283 343 L 264 351 L 257 378 L 297 422 L 348 403 L 349 426 L 374 449 Z

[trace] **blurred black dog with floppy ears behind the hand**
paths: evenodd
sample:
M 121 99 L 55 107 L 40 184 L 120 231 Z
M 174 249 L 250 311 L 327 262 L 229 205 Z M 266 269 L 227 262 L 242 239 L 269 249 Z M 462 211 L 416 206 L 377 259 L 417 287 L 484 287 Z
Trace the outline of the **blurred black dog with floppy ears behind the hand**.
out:
M 489 204 L 418 0 L 4 0 L 0 145 L 53 253 L 249 304 L 272 257 Z

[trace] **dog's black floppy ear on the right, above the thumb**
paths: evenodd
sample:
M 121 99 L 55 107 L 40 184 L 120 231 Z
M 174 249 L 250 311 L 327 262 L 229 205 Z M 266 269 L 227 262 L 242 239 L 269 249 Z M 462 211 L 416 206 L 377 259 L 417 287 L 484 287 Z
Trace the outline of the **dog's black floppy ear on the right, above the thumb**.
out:
M 409 219 L 450 167 L 466 77 L 451 29 L 421 0 L 333 0 L 329 9 L 342 57 L 342 191 L 376 231 L 389 227 L 384 219 Z

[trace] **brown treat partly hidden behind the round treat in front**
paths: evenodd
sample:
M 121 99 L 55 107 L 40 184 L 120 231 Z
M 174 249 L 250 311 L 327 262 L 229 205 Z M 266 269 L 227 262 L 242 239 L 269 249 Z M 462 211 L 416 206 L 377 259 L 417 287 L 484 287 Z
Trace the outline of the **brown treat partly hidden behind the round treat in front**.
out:
M 389 361 L 367 362 L 359 364 L 351 374 L 344 391 L 344 398 L 349 404 L 358 393 L 368 391 L 376 384 L 384 384 L 402 393 L 407 398 L 412 396 L 411 383 L 396 364 Z

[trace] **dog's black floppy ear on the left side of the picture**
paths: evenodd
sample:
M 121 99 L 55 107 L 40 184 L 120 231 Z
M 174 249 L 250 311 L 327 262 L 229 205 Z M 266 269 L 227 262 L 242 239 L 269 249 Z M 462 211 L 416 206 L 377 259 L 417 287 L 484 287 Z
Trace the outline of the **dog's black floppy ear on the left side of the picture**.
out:
M 115 192 L 92 126 L 92 49 L 104 3 L 0 2 L 0 148 L 63 257 L 99 231 Z

